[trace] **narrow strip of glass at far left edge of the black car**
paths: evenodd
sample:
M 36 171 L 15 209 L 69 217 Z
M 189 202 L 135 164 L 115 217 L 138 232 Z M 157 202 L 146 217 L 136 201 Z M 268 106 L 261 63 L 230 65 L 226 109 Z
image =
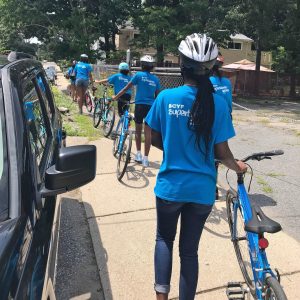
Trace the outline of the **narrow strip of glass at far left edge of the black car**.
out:
M 0 93 L 1 87 L 0 87 Z M 0 222 L 8 217 L 8 162 L 4 108 L 0 95 Z

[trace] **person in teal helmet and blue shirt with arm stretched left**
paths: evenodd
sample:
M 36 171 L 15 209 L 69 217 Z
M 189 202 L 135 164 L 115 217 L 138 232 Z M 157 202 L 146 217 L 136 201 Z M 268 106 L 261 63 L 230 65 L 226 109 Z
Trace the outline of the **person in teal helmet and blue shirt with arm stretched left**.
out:
M 95 80 L 95 83 L 99 84 L 112 84 L 114 86 L 114 93 L 117 95 L 131 80 L 129 74 L 129 65 L 125 62 L 119 64 L 119 73 L 113 74 L 106 79 Z M 126 90 L 126 92 L 120 96 L 118 99 L 118 114 L 121 117 L 124 111 L 128 108 L 131 99 L 131 89 Z

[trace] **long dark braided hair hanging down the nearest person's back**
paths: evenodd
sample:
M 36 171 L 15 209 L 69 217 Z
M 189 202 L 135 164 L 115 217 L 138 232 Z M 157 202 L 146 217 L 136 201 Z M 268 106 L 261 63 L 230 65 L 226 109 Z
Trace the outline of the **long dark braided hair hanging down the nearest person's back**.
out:
M 209 75 L 197 75 L 193 69 L 182 69 L 184 80 L 196 83 L 198 91 L 194 100 L 189 119 L 188 128 L 195 133 L 195 146 L 208 157 L 212 137 L 212 127 L 215 119 L 214 88 Z M 201 142 L 204 142 L 204 150 Z

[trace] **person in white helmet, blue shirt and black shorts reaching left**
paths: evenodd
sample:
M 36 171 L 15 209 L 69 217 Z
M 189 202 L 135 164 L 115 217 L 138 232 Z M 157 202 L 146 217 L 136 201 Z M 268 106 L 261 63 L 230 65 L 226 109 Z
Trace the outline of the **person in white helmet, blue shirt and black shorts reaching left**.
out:
M 154 59 L 150 55 L 145 55 L 141 57 L 141 67 L 142 72 L 137 72 L 127 86 L 122 89 L 115 97 L 114 100 L 117 100 L 121 97 L 128 89 L 133 85 L 137 86 L 137 91 L 135 95 L 135 142 L 136 142 L 136 156 L 135 161 L 142 163 L 143 167 L 149 166 L 148 155 L 150 152 L 151 146 L 151 129 L 145 124 L 144 133 L 145 133 L 145 156 L 141 154 L 141 144 L 142 144 L 142 130 L 144 119 L 146 118 L 149 110 L 151 109 L 152 104 L 160 90 L 159 79 L 151 74 L 151 71 L 154 68 Z

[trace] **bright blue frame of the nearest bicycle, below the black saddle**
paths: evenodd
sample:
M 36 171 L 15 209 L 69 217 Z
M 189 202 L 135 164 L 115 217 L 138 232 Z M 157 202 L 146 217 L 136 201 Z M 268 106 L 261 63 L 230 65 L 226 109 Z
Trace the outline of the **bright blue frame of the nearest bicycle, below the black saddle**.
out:
M 252 218 L 252 211 L 248 193 L 244 186 L 243 178 L 238 179 L 237 197 L 234 201 L 233 208 L 233 239 L 237 239 L 237 210 L 241 208 L 244 223 L 247 223 Z M 256 297 L 258 300 L 263 299 L 263 284 L 267 274 L 276 278 L 276 275 L 271 270 L 266 251 L 259 247 L 258 241 L 260 237 L 256 233 L 246 232 L 248 240 L 248 251 L 251 260 L 252 273 L 255 284 Z

